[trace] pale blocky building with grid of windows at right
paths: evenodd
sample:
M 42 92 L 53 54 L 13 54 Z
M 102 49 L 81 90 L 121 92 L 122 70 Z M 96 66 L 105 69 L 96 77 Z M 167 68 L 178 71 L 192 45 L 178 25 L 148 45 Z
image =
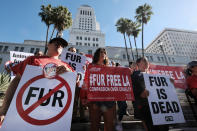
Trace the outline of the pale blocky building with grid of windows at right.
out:
M 161 45 L 162 43 L 162 45 Z M 179 29 L 164 29 L 146 48 L 147 53 L 186 56 L 197 60 L 197 32 Z

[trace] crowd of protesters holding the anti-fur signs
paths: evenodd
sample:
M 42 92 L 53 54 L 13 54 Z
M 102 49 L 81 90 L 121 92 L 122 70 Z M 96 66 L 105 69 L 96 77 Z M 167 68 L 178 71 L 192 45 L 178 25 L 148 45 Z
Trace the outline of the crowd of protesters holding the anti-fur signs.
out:
M 63 48 L 68 45 L 67 41 L 62 38 L 54 38 L 49 41 L 48 52 L 43 55 L 42 52 L 36 52 L 34 56 L 30 56 L 23 62 L 9 67 L 7 70 L 14 72 L 16 77 L 11 81 L 4 98 L 3 105 L 0 109 L 1 122 L 6 115 L 9 108 L 11 100 L 14 96 L 16 88 L 19 84 L 21 76 L 23 75 L 26 65 L 34 66 L 44 66 L 47 63 L 53 62 L 57 66 L 57 74 L 64 72 L 74 72 L 74 70 L 69 66 L 69 64 L 59 60 L 59 56 L 62 53 Z M 68 51 L 76 53 L 74 47 L 70 47 Z M 81 53 L 84 55 L 84 53 Z M 107 51 L 105 48 L 98 48 L 94 55 L 91 65 L 99 66 L 120 66 L 119 63 L 111 62 L 108 59 Z M 134 117 L 140 119 L 143 122 L 144 129 L 146 131 L 167 131 L 167 125 L 154 126 L 152 122 L 152 117 L 150 109 L 148 106 L 148 96 L 149 91 L 146 89 L 144 84 L 143 73 L 148 71 L 149 62 L 145 57 L 137 59 L 136 62 L 130 62 L 129 64 L 132 87 L 134 92 L 135 101 L 133 101 Z M 86 67 L 84 68 L 86 69 Z M 148 73 L 148 72 L 147 72 Z M 197 61 L 192 61 L 188 64 L 187 69 L 187 85 L 191 90 L 192 94 L 197 98 Z M 129 116 L 127 112 L 127 102 L 126 101 L 94 101 L 89 102 L 87 99 L 87 74 L 85 75 L 85 80 L 83 87 L 79 87 L 79 80 L 77 77 L 77 83 L 75 88 L 75 98 L 74 98 L 74 108 L 73 108 L 73 122 L 77 118 L 77 112 L 80 112 L 81 122 L 85 121 L 84 109 L 89 110 L 89 121 L 91 122 L 90 130 L 99 131 L 101 117 L 104 120 L 104 131 L 122 131 L 121 121 L 124 115 Z M 117 104 L 117 106 L 116 106 Z M 116 112 L 116 107 L 118 107 L 118 112 Z M 78 110 L 79 109 L 79 110 Z M 117 117 L 118 116 L 118 117 Z

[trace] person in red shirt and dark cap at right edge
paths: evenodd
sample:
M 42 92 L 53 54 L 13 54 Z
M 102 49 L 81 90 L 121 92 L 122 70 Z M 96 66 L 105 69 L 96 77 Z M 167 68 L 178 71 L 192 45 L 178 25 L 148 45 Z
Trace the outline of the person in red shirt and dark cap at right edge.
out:
M 197 61 L 189 62 L 187 65 L 187 85 L 193 96 L 197 98 Z

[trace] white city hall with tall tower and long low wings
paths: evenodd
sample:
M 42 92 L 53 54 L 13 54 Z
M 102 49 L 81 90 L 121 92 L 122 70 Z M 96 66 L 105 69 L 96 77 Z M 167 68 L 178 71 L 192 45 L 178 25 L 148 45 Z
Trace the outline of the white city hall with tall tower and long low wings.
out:
M 169 33 L 167 37 L 171 37 L 170 35 L 171 33 Z M 10 60 L 10 51 L 35 53 L 40 50 L 44 52 L 44 46 L 44 41 L 37 40 L 25 40 L 24 43 L 0 42 L 0 72 L 4 71 L 5 62 Z M 111 61 L 118 62 L 122 66 L 128 66 L 125 48 L 105 46 L 105 35 L 100 31 L 99 24 L 96 22 L 93 8 L 88 5 L 83 5 L 78 8 L 73 26 L 69 31 L 69 46 L 66 49 L 71 46 L 77 49 L 77 53 L 83 52 L 91 55 L 94 54 L 97 48 L 104 47 Z M 165 46 L 164 48 L 168 47 Z M 158 50 L 158 48 L 155 50 Z M 130 48 L 128 48 L 128 52 L 130 60 L 132 60 L 133 57 Z M 133 49 L 133 53 L 136 60 L 137 55 L 135 49 Z M 138 54 L 141 56 L 141 49 L 138 49 Z M 159 50 L 158 52 L 145 53 L 145 56 L 151 64 L 166 65 L 164 55 L 159 52 Z M 166 55 L 166 57 L 170 66 L 184 66 L 190 61 L 187 56 L 180 54 L 169 54 Z

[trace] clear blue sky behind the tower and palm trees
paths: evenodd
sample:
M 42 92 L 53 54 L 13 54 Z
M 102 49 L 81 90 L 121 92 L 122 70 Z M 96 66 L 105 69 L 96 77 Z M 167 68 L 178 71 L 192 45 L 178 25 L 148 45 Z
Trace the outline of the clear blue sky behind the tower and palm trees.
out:
M 73 18 L 77 8 L 87 4 L 95 10 L 106 35 L 106 45 L 124 47 L 123 36 L 116 31 L 115 23 L 120 17 L 134 20 L 136 8 L 144 3 L 150 4 L 154 13 L 145 25 L 145 47 L 164 28 L 197 30 L 197 0 L 1 0 L 0 42 L 45 40 L 46 26 L 38 16 L 42 4 L 66 6 Z M 64 31 L 63 38 L 68 40 L 68 31 Z M 137 44 L 141 47 L 141 34 Z

